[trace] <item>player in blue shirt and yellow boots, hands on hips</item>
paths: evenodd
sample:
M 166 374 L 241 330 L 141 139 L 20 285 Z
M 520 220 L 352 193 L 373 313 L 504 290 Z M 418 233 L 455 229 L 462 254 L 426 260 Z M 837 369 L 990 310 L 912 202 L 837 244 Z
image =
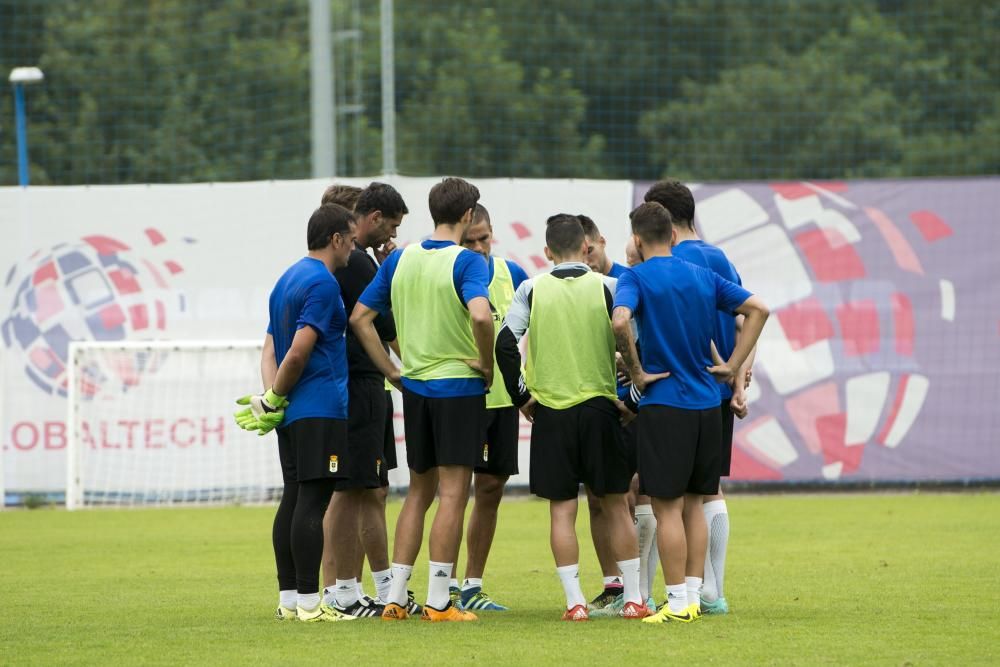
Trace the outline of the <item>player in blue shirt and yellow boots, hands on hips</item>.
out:
M 632 382 L 643 392 L 637 419 L 639 490 L 653 499 L 667 604 L 643 622 L 700 615 L 707 535 L 702 498 L 718 491 L 718 381 L 736 375 L 757 342 L 767 307 L 709 269 L 674 257 L 677 229 L 655 202 L 631 214 L 642 264 L 618 279 L 613 327 Z M 732 355 L 713 364 L 716 311 L 745 316 Z M 642 361 L 630 320 L 639 327 Z M 670 376 L 650 383 L 649 373 Z M 714 377 L 713 377 L 714 376 Z

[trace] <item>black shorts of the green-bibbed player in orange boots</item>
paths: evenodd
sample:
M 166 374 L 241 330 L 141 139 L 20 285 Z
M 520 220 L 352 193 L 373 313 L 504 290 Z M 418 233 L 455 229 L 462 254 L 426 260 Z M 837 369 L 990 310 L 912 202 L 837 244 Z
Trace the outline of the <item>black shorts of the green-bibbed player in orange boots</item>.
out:
M 475 468 L 485 421 L 485 395 L 429 398 L 404 388 L 407 465 L 417 473 L 445 465 Z

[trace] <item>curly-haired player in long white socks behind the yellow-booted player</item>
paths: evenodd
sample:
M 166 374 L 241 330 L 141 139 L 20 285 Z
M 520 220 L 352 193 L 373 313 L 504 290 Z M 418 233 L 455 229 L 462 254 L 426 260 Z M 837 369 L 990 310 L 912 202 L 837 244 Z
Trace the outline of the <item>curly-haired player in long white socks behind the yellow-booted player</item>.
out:
M 698 236 L 694 226 L 695 202 L 691 190 L 673 179 L 658 181 L 649 188 L 646 201 L 655 201 L 670 211 L 677 228 L 677 245 L 673 248 L 675 257 L 711 269 L 730 282 L 742 285 L 736 268 L 721 249 L 705 243 Z M 729 358 L 736 347 L 736 339 L 743 326 L 743 317 L 733 317 L 728 313 L 718 313 L 715 346 L 723 359 Z M 719 385 L 719 415 L 722 420 L 722 460 L 721 476 L 729 477 L 733 456 L 733 416 L 743 419 L 747 415 L 746 378 L 754 352 L 743 364 L 733 381 Z M 705 584 L 702 587 L 701 610 L 709 614 L 725 614 L 729 611 L 723 582 L 725 580 L 726 551 L 729 545 L 729 510 L 722 495 L 722 488 L 710 496 L 705 496 L 705 522 L 708 525 L 708 553 L 705 558 Z

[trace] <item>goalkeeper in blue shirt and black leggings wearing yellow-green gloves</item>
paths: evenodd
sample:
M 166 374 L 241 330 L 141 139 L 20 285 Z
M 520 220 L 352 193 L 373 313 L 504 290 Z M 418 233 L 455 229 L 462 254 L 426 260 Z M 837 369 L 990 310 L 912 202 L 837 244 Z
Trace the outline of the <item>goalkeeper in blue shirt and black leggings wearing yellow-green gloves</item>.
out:
M 241 399 L 237 423 L 262 434 L 277 426 L 284 493 L 272 541 L 278 570 L 279 620 L 354 620 L 323 604 L 319 565 L 323 514 L 349 464 L 347 448 L 347 312 L 333 272 L 354 248 L 354 214 L 329 204 L 309 218 L 309 254 L 271 292 L 261 375 L 267 390 Z M 354 576 L 354 540 L 343 540 L 337 576 Z

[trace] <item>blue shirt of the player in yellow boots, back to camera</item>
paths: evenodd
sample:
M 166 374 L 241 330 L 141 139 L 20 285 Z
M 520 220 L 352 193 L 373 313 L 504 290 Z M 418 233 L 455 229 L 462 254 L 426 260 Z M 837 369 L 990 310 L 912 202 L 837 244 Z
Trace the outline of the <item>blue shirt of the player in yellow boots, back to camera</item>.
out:
M 647 373 L 670 371 L 639 402 L 685 410 L 719 406 L 719 388 L 706 370 L 716 311 L 732 314 L 750 292 L 714 271 L 678 257 L 652 257 L 618 279 L 615 307 L 632 311 L 639 325 L 639 354 Z

